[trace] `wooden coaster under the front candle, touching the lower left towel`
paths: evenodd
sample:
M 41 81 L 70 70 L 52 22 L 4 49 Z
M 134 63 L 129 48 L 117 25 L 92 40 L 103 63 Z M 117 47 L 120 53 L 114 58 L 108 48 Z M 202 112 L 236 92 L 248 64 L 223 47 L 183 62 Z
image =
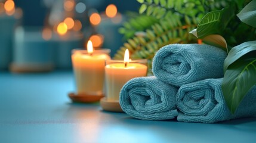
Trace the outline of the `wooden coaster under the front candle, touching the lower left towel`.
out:
M 107 101 L 106 97 L 101 98 L 100 105 L 106 111 L 124 112 L 118 101 Z

